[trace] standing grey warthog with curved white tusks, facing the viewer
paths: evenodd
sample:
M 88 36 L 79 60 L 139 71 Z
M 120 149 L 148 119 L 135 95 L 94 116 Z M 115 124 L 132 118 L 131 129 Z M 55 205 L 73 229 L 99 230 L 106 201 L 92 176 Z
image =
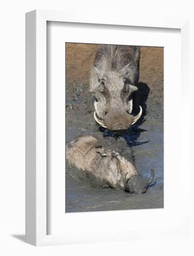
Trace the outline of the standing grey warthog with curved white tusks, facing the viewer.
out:
M 103 45 L 97 49 L 90 71 L 94 118 L 111 131 L 122 132 L 142 113 L 138 106 L 140 47 Z M 133 116 L 134 113 L 139 113 Z

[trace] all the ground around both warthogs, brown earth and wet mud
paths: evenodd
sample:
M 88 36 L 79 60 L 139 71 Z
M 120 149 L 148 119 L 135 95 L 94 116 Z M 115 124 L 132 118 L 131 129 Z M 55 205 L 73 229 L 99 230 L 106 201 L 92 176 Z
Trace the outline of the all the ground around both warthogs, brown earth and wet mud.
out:
M 89 47 L 94 46 L 66 46 L 66 143 L 77 135 L 93 133 L 94 106 L 88 93 L 92 60 L 86 62 L 85 56 L 91 51 Z M 72 60 L 72 54 L 79 56 Z M 141 47 L 140 81 L 143 81 L 139 83 L 139 96 L 144 115 L 124 136 L 134 150 L 138 173 L 148 178 L 153 168 L 155 185 L 144 194 L 129 194 L 111 188 L 97 189 L 66 177 L 65 212 L 163 208 L 163 50 L 159 47 Z

